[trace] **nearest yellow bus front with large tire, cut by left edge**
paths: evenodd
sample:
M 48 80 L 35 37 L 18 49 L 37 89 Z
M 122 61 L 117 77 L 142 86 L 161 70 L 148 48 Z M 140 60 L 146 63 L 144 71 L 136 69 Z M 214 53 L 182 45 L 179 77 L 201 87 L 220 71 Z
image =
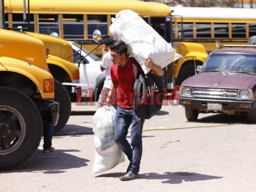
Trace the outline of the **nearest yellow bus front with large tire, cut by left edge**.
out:
M 47 70 L 46 48 L 35 37 L 0 29 L 0 171 L 35 154 L 42 121 L 56 125 L 59 104 Z

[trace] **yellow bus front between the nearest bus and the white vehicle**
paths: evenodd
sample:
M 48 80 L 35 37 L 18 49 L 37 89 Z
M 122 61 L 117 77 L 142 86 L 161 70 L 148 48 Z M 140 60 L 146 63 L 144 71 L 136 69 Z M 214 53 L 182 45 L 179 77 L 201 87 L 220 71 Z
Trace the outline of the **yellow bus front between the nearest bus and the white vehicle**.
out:
M 45 47 L 49 50 L 47 55 L 47 64 L 49 71 L 54 77 L 55 96 L 54 100 L 60 103 L 60 118 L 53 127 L 53 133 L 61 131 L 69 120 L 71 114 L 71 96 L 76 98 L 75 87 L 63 85 L 62 83 L 79 83 L 79 68 L 73 64 L 73 50 L 69 42 L 54 36 L 33 33 L 20 32 L 34 36 L 43 41 Z M 72 93 L 73 91 L 73 93 Z

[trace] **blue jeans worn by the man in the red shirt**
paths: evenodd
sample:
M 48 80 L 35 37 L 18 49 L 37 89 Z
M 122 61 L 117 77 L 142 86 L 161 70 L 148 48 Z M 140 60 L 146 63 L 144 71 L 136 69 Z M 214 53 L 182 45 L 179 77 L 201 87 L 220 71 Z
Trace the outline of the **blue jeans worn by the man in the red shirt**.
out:
M 131 162 L 130 171 L 138 173 L 142 156 L 142 129 L 144 119 L 136 116 L 133 109 L 117 108 L 114 125 L 114 135 L 118 146 Z M 131 144 L 126 139 L 131 127 Z

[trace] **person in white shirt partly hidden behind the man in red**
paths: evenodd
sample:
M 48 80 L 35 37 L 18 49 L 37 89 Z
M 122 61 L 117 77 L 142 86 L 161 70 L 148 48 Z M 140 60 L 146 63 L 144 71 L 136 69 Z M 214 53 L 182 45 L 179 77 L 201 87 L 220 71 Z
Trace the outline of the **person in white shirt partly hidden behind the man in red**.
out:
M 105 72 L 106 79 L 104 81 L 104 85 L 101 90 L 101 93 L 98 97 L 98 107 L 101 106 L 102 99 L 105 100 L 106 96 L 108 96 L 108 93 L 110 91 L 110 86 L 112 84 L 111 76 L 110 76 L 110 67 L 113 64 L 113 62 L 111 60 L 109 46 L 113 43 L 113 39 L 110 36 L 104 36 L 102 38 L 102 43 L 103 43 L 104 48 L 102 49 L 102 61 L 100 64 L 100 70 L 102 72 L 106 71 Z

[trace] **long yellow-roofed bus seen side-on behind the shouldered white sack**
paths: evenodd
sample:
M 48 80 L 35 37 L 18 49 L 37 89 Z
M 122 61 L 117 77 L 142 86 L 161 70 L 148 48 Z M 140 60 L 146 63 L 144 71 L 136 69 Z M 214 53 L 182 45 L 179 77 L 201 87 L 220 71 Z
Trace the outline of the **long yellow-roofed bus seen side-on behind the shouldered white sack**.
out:
M 95 29 L 99 29 L 102 36 L 110 35 L 111 17 L 115 17 L 116 13 L 124 9 L 133 10 L 153 28 L 155 23 L 159 23 L 164 31 L 161 35 L 171 43 L 170 8 L 164 3 L 141 0 L 30 0 L 28 30 L 47 35 L 57 33 L 66 40 L 92 43 Z M 4 10 L 6 26 L 15 28 L 24 25 L 21 22 L 23 2 L 5 0 Z M 84 46 L 88 50 L 96 47 L 96 45 Z M 183 60 L 176 61 L 174 69 L 171 69 L 171 65 L 166 68 L 165 80 L 168 89 L 173 88 L 173 75 L 177 84 L 180 84 L 185 78 L 194 75 L 195 65 L 201 65 L 207 57 L 207 52 L 200 44 L 175 42 L 172 46 L 183 55 Z M 94 53 L 101 55 L 101 47 Z

